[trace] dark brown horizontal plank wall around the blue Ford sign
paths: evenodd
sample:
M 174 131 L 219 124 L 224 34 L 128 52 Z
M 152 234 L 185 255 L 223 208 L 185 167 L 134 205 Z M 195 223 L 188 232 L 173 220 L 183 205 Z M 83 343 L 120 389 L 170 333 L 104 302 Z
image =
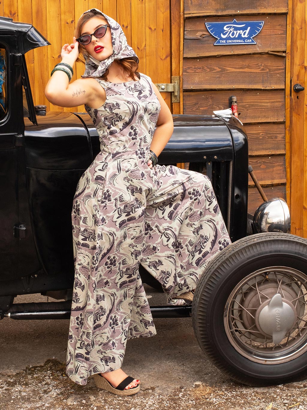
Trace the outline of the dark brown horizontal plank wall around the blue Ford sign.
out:
M 269 198 L 286 198 L 285 69 L 288 0 L 185 0 L 184 114 L 211 115 L 236 96 L 249 163 Z M 257 44 L 214 46 L 205 23 L 264 21 Z M 249 179 L 248 210 L 262 203 Z

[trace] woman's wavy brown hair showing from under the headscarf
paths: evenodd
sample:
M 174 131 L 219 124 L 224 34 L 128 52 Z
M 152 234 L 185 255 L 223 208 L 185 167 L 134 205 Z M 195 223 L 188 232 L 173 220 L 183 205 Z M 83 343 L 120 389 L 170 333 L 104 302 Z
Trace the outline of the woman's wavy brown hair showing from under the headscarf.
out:
M 93 17 L 98 17 L 104 23 L 108 24 L 108 22 L 106 21 L 106 18 L 102 16 L 102 14 L 98 13 L 98 11 L 89 11 L 88 13 L 82 14 L 74 30 L 74 36 L 76 38 L 79 38 L 81 36 L 82 27 L 87 21 L 89 21 Z M 82 57 L 79 54 L 77 61 L 80 61 L 83 64 L 85 64 L 85 54 L 87 53 L 86 53 L 85 47 L 82 46 L 82 44 L 80 43 L 79 43 L 79 50 L 80 50 L 80 54 Z M 135 77 L 138 77 L 140 79 L 140 74 L 138 73 L 138 63 L 133 58 L 122 58 L 120 60 L 114 60 L 114 62 L 118 64 L 124 70 L 124 73 L 128 75 L 128 77 L 130 77 L 131 80 L 135 80 Z M 109 71 L 106 70 L 104 75 L 102 75 L 103 80 L 106 80 L 106 81 L 108 80 L 107 78 L 108 73 Z

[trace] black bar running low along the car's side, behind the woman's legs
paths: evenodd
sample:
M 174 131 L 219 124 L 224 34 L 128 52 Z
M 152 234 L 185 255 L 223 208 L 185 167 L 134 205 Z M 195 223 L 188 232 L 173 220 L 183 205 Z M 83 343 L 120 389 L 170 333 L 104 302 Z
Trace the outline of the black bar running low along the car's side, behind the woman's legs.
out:
M 15 303 L 4 317 L 16 320 L 26 319 L 69 319 L 71 301 Z M 191 317 L 191 306 L 151 306 L 153 318 Z

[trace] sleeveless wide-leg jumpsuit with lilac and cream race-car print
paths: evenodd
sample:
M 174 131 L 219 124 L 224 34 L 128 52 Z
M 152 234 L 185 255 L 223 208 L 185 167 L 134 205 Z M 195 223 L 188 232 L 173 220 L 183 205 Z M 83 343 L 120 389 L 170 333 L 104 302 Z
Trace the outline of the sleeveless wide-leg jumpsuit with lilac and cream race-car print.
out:
M 86 107 L 101 152 L 81 176 L 72 228 L 75 279 L 67 374 L 119 369 L 127 339 L 156 334 L 138 272 L 141 263 L 168 303 L 196 287 L 206 264 L 230 243 L 210 180 L 176 166 L 147 166 L 160 103 L 151 80 L 111 83 L 99 109 Z

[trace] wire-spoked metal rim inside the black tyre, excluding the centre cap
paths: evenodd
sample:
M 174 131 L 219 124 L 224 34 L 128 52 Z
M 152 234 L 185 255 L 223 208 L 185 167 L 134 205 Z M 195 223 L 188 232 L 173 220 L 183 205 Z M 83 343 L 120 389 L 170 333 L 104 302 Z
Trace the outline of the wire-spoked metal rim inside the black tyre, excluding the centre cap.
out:
M 272 335 L 263 330 L 261 316 L 276 294 L 294 312 L 294 319 L 291 329 L 275 344 Z M 285 266 L 249 274 L 228 297 L 224 328 L 235 350 L 253 362 L 278 364 L 302 355 L 307 351 L 307 276 Z

